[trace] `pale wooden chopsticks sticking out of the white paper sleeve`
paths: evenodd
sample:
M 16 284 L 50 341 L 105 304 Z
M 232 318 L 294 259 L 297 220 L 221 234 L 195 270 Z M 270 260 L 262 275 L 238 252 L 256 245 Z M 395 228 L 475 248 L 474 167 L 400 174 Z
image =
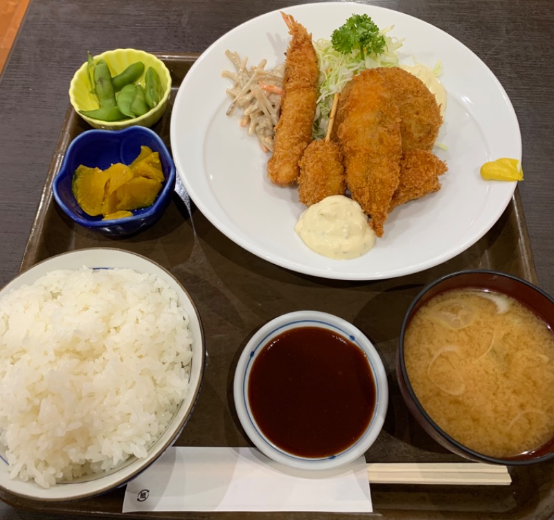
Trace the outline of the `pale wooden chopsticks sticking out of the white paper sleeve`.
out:
M 374 484 L 508 485 L 508 467 L 483 463 L 368 463 Z

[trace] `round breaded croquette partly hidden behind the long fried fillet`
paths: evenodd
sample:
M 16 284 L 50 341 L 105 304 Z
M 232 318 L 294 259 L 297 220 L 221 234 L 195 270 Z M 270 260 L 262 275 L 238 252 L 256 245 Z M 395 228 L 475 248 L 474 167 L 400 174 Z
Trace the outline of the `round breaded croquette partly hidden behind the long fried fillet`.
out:
M 433 149 L 443 118 L 436 98 L 418 77 L 399 67 L 375 69 L 400 110 L 402 152 Z

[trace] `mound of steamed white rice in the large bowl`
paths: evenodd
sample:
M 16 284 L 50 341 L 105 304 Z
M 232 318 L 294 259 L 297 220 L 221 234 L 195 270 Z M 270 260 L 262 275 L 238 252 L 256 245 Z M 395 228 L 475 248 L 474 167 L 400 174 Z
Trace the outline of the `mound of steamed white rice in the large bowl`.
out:
M 57 270 L 3 297 L 10 476 L 48 488 L 145 457 L 186 396 L 191 342 L 175 290 L 130 269 Z

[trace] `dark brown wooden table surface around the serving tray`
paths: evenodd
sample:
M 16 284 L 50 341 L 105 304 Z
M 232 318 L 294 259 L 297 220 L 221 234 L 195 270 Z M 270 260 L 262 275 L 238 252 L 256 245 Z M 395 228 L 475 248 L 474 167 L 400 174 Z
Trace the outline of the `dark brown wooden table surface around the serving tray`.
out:
M 554 295 L 554 2 L 367 3 L 405 12 L 445 30 L 473 50 L 506 89 L 521 128 L 525 180 L 519 190 L 539 286 Z M 0 77 L 0 286 L 19 269 L 69 103 L 69 82 L 87 50 L 93 54 L 120 47 L 202 52 L 247 19 L 290 4 L 278 0 L 31 0 Z M 35 515 L 0 508 L 0 517 Z

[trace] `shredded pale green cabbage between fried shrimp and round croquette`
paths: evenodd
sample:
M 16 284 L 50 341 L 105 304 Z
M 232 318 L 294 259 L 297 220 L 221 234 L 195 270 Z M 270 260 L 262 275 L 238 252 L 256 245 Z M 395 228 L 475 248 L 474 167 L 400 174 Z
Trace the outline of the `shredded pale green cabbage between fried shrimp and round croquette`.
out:
M 386 46 L 382 54 L 366 55 L 361 59 L 359 49 L 343 54 L 334 50 L 330 40 L 319 39 L 314 42 L 319 66 L 319 97 L 314 119 L 314 139 L 322 139 L 327 133 L 329 114 L 335 93 L 340 93 L 350 78 L 366 68 L 398 66 L 397 50 L 402 47 L 404 39 L 387 36 L 393 26 L 380 31 Z

